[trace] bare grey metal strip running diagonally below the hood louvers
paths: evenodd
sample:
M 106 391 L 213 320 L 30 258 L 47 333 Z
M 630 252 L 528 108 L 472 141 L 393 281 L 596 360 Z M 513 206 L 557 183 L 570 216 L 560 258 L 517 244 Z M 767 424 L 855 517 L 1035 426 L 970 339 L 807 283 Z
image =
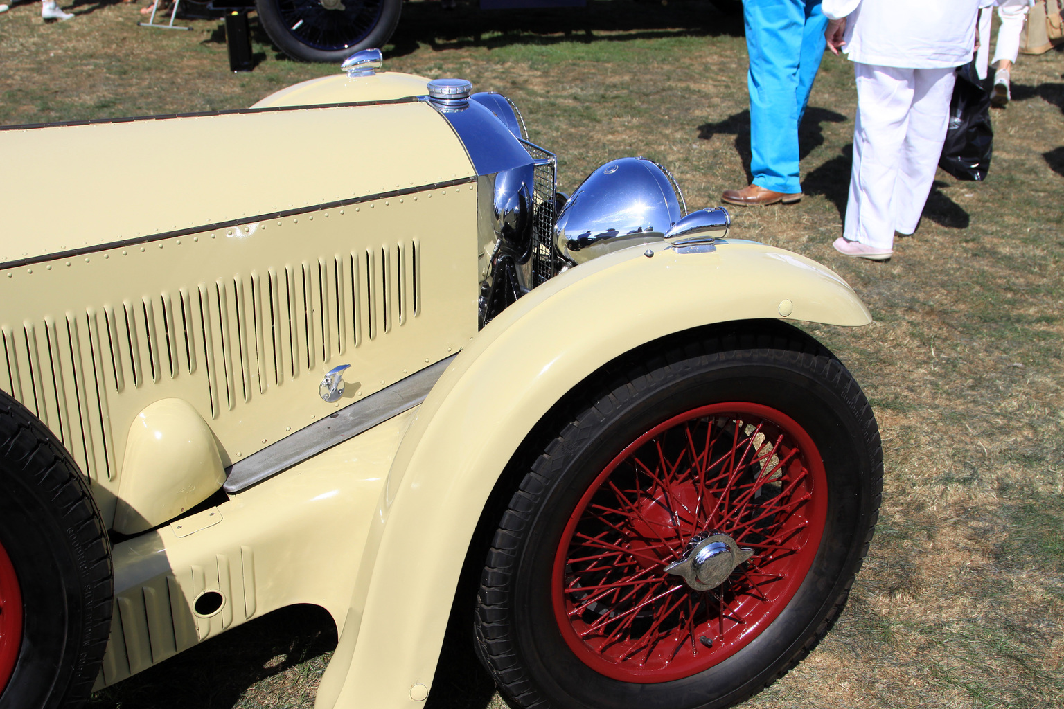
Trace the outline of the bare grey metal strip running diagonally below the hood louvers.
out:
M 440 359 L 435 365 L 234 462 L 226 470 L 229 477 L 222 488 L 230 493 L 247 490 L 417 406 L 429 395 L 444 370 L 456 356 Z

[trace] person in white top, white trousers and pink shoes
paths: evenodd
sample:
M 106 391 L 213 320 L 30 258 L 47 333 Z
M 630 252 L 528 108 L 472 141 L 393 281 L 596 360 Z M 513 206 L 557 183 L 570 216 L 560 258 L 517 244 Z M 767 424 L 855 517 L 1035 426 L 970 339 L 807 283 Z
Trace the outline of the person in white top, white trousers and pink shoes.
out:
M 853 62 L 858 116 L 835 250 L 886 260 L 916 231 L 942 154 L 953 72 L 971 61 L 979 0 L 824 0 L 828 48 Z M 916 18 L 919 18 L 918 20 Z

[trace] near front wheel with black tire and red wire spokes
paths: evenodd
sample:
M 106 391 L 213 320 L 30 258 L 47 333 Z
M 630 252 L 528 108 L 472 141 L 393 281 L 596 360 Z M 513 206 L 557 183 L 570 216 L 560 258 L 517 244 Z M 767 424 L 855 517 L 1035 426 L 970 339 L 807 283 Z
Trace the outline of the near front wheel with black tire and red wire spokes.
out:
M 794 666 L 846 602 L 880 504 L 883 468 L 875 417 L 838 359 L 781 324 L 672 340 L 606 369 L 564 409 L 553 438 L 539 449 L 502 514 L 477 598 L 477 652 L 508 700 L 527 709 L 731 706 Z M 708 413 L 698 418 L 698 411 Z M 691 467 L 689 480 L 682 466 L 668 468 L 671 473 L 655 468 L 660 478 L 641 472 L 658 465 L 654 455 L 666 467 L 685 455 L 696 460 L 684 449 L 703 434 L 698 460 L 716 462 L 703 465 L 702 473 L 694 472 L 702 463 Z M 769 451 L 764 446 L 771 440 L 776 448 Z M 746 445 L 753 453 L 747 462 L 738 456 L 726 475 L 718 444 L 721 452 Z M 696 450 L 694 443 L 689 450 Z M 648 451 L 652 455 L 646 457 Z M 711 477 L 716 488 L 706 482 Z M 803 489 L 807 502 L 799 495 Z M 719 512 L 729 508 L 734 519 Z M 632 531 L 651 514 L 666 520 L 649 523 L 660 544 L 648 531 Z M 683 518 L 689 520 L 681 523 Z M 789 531 L 787 525 L 801 519 L 805 526 Z M 666 539 L 662 530 L 670 520 L 677 531 Z M 685 528 L 694 535 L 711 523 L 712 529 L 685 541 Z M 817 525 L 822 525 L 818 540 Z M 654 546 L 666 560 L 691 556 L 700 548 L 696 542 L 706 544 L 711 540 L 704 537 L 719 531 L 745 539 L 739 546 L 764 543 L 751 550 L 758 553 L 748 563 L 729 564 L 726 580 L 710 591 L 694 590 L 672 575 L 679 572 L 666 573 L 666 561 L 648 553 Z M 626 554 L 610 551 L 621 547 Z M 597 555 L 606 560 L 588 560 L 602 548 L 608 551 Z M 753 580 L 782 569 L 792 572 Z M 646 586 L 658 576 L 666 579 L 664 586 Z M 672 587 L 672 595 L 653 600 L 659 589 Z M 688 603 L 689 610 L 682 605 L 669 610 L 672 598 Z M 732 613 L 750 614 L 735 621 Z M 638 636 L 644 628 L 649 630 Z M 679 639 L 677 649 L 663 648 L 668 638 Z M 626 652 L 634 655 L 626 659 Z

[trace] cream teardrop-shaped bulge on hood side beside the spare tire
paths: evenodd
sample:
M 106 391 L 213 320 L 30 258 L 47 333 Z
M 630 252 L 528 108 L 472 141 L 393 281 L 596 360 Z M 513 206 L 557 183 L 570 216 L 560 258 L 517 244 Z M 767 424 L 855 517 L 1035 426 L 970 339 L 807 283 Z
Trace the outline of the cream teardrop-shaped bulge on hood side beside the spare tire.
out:
M 211 427 L 181 399 L 160 400 L 137 415 L 122 470 L 114 529 L 123 535 L 172 520 L 226 482 Z

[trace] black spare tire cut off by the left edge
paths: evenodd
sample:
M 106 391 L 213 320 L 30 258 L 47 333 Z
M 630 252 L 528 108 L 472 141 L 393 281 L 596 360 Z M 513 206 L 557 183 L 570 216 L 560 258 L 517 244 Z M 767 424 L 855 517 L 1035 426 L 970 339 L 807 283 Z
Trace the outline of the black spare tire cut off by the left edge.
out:
M 0 677 L 0 709 L 80 707 L 111 634 L 111 545 L 63 444 L 2 391 L 0 552 L 10 558 L 0 602 L 21 611 L 14 666 Z M 11 627 L 0 621 L 0 628 Z

